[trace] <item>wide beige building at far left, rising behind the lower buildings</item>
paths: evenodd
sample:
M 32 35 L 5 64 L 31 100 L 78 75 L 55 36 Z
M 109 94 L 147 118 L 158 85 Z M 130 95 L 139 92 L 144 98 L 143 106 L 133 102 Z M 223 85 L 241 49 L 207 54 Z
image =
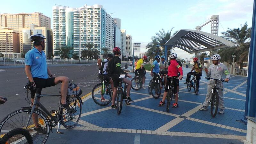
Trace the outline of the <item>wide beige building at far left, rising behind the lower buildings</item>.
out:
M 51 28 L 51 19 L 40 12 L 0 14 L 0 29 L 2 27 L 8 27 L 17 30 L 20 28 L 29 28 L 31 24 Z

